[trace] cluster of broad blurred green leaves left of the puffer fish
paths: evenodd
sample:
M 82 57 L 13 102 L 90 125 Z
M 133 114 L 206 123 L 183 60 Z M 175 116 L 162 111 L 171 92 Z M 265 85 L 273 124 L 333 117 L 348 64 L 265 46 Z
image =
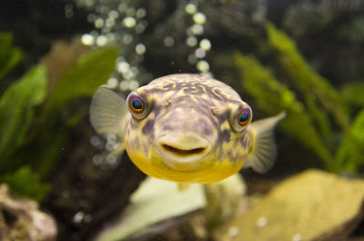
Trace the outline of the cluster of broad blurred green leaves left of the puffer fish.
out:
M 11 35 L 0 34 L 0 41 L 6 44 L 0 47 L 2 75 L 21 57 L 11 39 Z M 80 105 L 65 115 L 67 105 L 76 98 L 91 96 L 106 83 L 114 71 L 117 54 L 118 48 L 112 47 L 81 55 L 57 80 L 52 93 L 46 93 L 45 65 L 31 67 L 5 89 L 0 96 L 0 181 L 19 195 L 36 200 L 45 196 L 50 187 L 41 180 L 52 175 L 66 146 L 69 128 L 76 126 L 88 110 L 88 105 Z M 2 62 L 3 56 L 9 63 Z M 12 174 L 5 175 L 9 172 Z

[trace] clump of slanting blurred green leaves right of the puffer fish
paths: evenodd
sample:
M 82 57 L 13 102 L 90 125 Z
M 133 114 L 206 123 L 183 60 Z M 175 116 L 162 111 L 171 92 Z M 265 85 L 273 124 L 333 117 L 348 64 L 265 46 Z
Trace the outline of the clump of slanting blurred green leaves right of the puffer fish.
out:
M 338 91 L 307 63 L 288 35 L 271 24 L 266 29 L 268 39 L 263 45 L 268 46 L 274 65 L 235 54 L 244 88 L 269 114 L 286 110 L 284 131 L 315 152 L 326 169 L 359 172 L 364 165 L 364 111 L 352 124 L 350 112 L 353 106 L 363 106 L 364 85 L 347 85 Z

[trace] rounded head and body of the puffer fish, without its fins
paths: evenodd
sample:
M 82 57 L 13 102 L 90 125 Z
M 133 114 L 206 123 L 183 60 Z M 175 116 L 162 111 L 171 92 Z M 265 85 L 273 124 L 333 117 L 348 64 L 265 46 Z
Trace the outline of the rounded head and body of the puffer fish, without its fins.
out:
M 229 86 L 200 75 L 168 75 L 128 95 L 126 105 L 126 152 L 147 175 L 210 183 L 244 165 L 252 113 Z

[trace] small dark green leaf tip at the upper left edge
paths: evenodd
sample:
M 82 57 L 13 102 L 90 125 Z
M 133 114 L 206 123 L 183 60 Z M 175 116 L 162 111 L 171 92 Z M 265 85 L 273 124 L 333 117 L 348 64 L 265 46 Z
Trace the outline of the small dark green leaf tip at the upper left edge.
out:
M 10 72 L 22 57 L 20 49 L 13 47 L 13 35 L 0 33 L 0 79 Z

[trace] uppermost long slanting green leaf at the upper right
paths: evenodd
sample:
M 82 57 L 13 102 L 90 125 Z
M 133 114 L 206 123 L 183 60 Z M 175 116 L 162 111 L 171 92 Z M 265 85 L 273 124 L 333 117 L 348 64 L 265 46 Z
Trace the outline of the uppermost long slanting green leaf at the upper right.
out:
M 292 84 L 305 97 L 309 105 L 314 107 L 312 115 L 321 127 L 328 127 L 329 117 L 316 115 L 330 113 L 342 129 L 349 127 L 349 108 L 342 101 L 339 92 L 334 89 L 327 79 L 319 75 L 300 55 L 294 41 L 274 25 L 266 25 L 268 42 L 278 51 L 278 64 L 283 69 Z M 319 105 L 317 105 L 317 104 Z M 315 104 L 316 106 L 314 106 Z M 321 109 L 321 111 L 319 111 Z M 309 109 L 311 111 L 311 109 Z M 328 135 L 329 129 L 323 129 Z M 332 136 L 332 135 L 331 135 Z

